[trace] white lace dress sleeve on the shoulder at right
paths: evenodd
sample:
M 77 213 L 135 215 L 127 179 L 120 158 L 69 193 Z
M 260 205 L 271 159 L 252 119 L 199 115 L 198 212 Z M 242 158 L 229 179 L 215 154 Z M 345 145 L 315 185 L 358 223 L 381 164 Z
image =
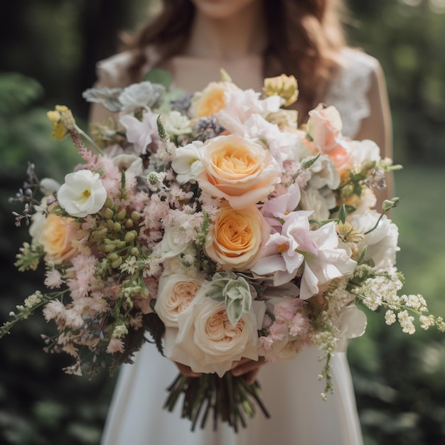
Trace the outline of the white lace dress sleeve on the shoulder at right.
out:
M 354 138 L 363 119 L 370 116 L 368 92 L 372 73 L 379 66 L 377 59 L 360 50 L 345 48 L 342 52 L 341 67 L 331 80 L 325 102 L 340 112 L 345 136 Z

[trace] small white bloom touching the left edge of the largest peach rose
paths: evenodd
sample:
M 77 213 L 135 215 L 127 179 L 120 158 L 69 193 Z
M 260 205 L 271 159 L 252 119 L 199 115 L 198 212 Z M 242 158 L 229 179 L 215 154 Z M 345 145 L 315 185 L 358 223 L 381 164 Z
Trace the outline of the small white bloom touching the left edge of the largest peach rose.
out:
M 171 167 L 176 171 L 179 183 L 195 183 L 198 175 L 204 171 L 203 142 L 193 141 L 183 147 L 178 147 L 171 161 Z

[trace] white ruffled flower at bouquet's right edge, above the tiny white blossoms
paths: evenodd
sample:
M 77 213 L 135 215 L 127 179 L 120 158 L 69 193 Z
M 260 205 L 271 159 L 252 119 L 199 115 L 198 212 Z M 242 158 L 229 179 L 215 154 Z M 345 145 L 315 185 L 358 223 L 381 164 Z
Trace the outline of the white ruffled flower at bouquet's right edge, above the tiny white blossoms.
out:
M 371 230 L 380 218 L 377 210 L 370 210 L 364 215 L 353 215 L 350 223 L 358 230 L 365 233 Z M 397 246 L 399 230 L 386 215 L 383 215 L 380 223 L 372 232 L 363 238 L 359 249 L 368 246 L 365 260 L 372 259 L 377 269 L 391 269 L 396 262 L 396 253 L 400 250 Z

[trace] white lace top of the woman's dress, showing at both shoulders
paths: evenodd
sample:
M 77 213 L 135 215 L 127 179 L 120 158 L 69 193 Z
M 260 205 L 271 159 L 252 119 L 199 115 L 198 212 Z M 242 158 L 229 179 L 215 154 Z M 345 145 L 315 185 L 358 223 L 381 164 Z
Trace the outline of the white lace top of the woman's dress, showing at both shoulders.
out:
M 124 87 L 128 85 L 129 81 L 124 68 L 129 63 L 129 58 L 129 53 L 119 53 L 100 61 L 97 64 L 97 86 Z M 151 54 L 150 60 L 156 60 L 156 57 Z M 218 64 L 209 60 L 208 65 L 211 68 L 212 65 L 217 67 Z M 370 76 L 377 65 L 375 58 L 359 50 L 345 48 L 341 53 L 341 68 L 331 80 L 323 102 L 335 106 L 340 112 L 345 136 L 354 138 L 360 129 L 360 122 L 370 114 L 368 102 Z M 144 70 L 149 68 L 151 67 L 146 66 Z M 218 73 L 217 68 L 215 68 L 215 73 Z

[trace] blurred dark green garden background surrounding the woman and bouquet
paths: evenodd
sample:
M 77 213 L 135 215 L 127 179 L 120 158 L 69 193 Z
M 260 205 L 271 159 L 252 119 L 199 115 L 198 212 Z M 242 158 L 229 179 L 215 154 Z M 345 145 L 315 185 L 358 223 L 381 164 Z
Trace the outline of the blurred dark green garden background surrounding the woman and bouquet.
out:
M 85 128 L 81 95 L 95 81 L 95 62 L 115 52 L 119 31 L 134 28 L 149 4 L 8 2 L 0 27 L 0 321 L 42 287 L 37 274 L 13 265 L 27 230 L 14 227 L 17 209 L 8 198 L 21 187 L 28 162 L 40 177 L 60 180 L 77 162 L 69 141 L 50 137 L 45 112 L 67 104 Z M 392 213 L 404 293 L 422 293 L 432 311 L 445 315 L 445 0 L 348 4 L 350 43 L 379 59 L 387 77 L 394 159 L 404 165 L 395 174 L 402 201 Z M 367 333 L 348 350 L 365 444 L 445 444 L 444 334 L 409 336 L 384 326 L 382 313 L 367 314 Z M 65 375 L 69 358 L 42 349 L 40 334 L 51 329 L 39 314 L 0 341 L 0 444 L 99 443 L 115 376 Z

